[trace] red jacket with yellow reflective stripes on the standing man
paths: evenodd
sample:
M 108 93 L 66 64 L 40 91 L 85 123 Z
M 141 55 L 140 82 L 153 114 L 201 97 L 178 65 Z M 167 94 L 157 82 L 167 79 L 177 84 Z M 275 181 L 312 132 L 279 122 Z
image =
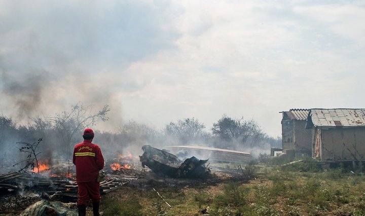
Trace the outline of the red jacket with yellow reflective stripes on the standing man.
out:
M 99 171 L 104 168 L 104 158 L 100 148 L 89 140 L 75 146 L 72 162 L 76 165 L 77 182 L 94 182 Z

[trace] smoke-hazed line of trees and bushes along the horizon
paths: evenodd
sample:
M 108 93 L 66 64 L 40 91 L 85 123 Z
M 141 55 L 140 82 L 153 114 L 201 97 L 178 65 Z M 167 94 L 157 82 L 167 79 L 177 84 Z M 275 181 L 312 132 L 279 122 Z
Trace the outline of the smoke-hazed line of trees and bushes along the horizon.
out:
M 27 125 L 19 125 L 6 116 L 0 116 L 0 166 L 16 163 L 22 155 L 17 143 L 33 143 L 43 139 L 39 150 L 50 160 L 70 159 L 73 147 L 82 141 L 83 129 L 95 126 L 99 121 L 107 121 L 108 105 L 94 111 L 91 106 L 81 103 L 52 117 L 30 118 Z M 245 151 L 261 148 L 269 151 L 280 147 L 281 138 L 267 135 L 254 120 L 234 119 L 223 115 L 212 128 L 196 118 L 184 118 L 156 129 L 134 120 L 121 124 L 115 132 L 96 131 L 94 142 L 100 143 L 103 153 L 123 154 L 126 147 L 140 148 L 142 145 L 157 147 L 172 145 L 201 145 Z

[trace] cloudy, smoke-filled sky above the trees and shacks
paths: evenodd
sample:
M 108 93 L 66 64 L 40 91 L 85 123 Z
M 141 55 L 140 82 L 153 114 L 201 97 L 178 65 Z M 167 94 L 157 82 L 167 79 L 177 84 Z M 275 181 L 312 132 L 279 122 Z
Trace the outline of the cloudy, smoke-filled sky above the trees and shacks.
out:
M 0 1 L 0 112 L 81 102 L 96 127 L 223 115 L 281 136 L 281 111 L 365 108 L 365 1 Z

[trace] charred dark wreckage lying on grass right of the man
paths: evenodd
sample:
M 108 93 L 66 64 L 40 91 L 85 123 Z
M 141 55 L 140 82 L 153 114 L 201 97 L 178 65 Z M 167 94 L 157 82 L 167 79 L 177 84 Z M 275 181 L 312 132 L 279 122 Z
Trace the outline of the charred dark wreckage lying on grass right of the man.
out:
M 143 155 L 139 156 L 142 167 L 148 166 L 160 176 L 173 178 L 204 178 L 210 173 L 205 166 L 209 160 L 199 160 L 191 157 L 180 161 L 175 155 L 166 151 L 153 148 L 149 145 L 142 146 Z

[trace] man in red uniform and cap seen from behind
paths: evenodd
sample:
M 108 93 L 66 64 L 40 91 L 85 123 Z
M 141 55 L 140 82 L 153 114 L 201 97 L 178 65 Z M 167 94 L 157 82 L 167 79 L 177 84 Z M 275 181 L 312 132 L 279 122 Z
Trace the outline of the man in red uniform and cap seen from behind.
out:
M 93 203 L 94 216 L 99 216 L 100 183 L 96 182 L 99 171 L 104 168 L 104 158 L 100 148 L 91 143 L 94 131 L 84 130 L 84 141 L 75 146 L 72 161 L 76 165 L 76 179 L 78 184 L 79 216 L 86 215 L 86 206 L 90 199 Z

